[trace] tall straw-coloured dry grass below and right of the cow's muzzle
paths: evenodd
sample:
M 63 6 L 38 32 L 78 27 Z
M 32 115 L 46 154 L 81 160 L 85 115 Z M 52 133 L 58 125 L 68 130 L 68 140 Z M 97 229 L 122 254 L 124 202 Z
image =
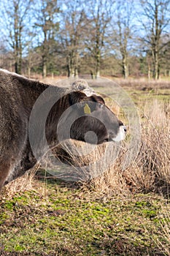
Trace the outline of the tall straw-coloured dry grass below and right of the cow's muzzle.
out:
M 134 162 L 122 170 L 123 155 L 127 150 L 117 150 L 114 144 L 107 143 L 87 146 L 77 141 L 67 141 L 57 148 L 57 154 L 63 162 L 73 165 L 72 176 L 87 181 L 90 186 L 103 192 L 163 192 L 169 193 L 170 184 L 170 119 L 169 105 L 154 99 L 142 106 L 142 142 Z M 91 147 L 91 148 L 90 148 Z M 90 154 L 88 151 L 90 150 Z M 81 154 L 80 154 L 81 152 Z M 101 159 L 101 161 L 99 160 Z M 113 159 L 112 165 L 107 165 Z M 116 159 L 114 161 L 114 159 Z M 82 168 L 82 166 L 88 168 Z M 76 167 L 75 167 L 76 166 Z M 79 168 L 77 168 L 77 166 Z M 85 173 L 86 172 L 86 173 Z M 67 173 L 68 174 L 68 173 Z M 86 183 L 86 182 L 84 182 Z M 88 182 L 89 185 L 89 182 Z

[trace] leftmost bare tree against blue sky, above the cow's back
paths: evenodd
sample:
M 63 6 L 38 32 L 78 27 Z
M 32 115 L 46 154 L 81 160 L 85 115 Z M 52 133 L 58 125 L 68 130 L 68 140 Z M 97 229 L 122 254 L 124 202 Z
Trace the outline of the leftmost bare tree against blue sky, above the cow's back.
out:
M 15 72 L 21 73 L 23 47 L 26 42 L 24 29 L 26 28 L 26 18 L 31 7 L 31 0 L 7 0 L 4 2 L 3 18 L 1 23 L 4 26 L 4 37 L 13 50 L 15 59 Z

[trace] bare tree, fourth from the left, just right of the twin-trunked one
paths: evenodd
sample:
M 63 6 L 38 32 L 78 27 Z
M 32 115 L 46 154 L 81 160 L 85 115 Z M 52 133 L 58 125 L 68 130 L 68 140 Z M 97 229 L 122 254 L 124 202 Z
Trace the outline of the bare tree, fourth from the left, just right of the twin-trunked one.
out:
M 87 1 L 88 25 L 85 44 L 94 59 L 93 76 L 98 77 L 101 69 L 101 57 L 107 42 L 107 29 L 112 17 L 112 0 Z

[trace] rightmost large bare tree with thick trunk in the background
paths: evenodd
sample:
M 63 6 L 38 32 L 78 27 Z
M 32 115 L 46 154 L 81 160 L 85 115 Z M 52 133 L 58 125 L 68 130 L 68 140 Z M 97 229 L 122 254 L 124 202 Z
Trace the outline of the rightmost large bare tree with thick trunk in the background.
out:
M 142 41 L 152 53 L 152 78 L 159 78 L 161 50 L 169 43 L 162 42 L 161 37 L 169 32 L 166 31 L 170 23 L 169 0 L 140 0 L 143 10 L 140 19 L 144 29 Z

